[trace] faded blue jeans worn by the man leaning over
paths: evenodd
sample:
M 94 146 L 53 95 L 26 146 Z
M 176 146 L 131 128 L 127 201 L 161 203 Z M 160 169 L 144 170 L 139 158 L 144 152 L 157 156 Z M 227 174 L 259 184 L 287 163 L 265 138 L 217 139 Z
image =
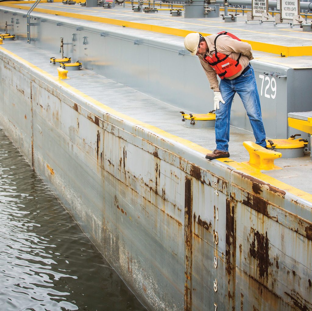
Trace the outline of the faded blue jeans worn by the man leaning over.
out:
M 266 133 L 261 116 L 260 98 L 256 85 L 254 70 L 250 68 L 242 75 L 233 80 L 223 79 L 219 89 L 225 104 L 220 102 L 220 109 L 216 110 L 216 143 L 217 150 L 228 151 L 230 140 L 230 113 L 235 93 L 241 98 L 246 109 L 256 143 L 266 146 Z

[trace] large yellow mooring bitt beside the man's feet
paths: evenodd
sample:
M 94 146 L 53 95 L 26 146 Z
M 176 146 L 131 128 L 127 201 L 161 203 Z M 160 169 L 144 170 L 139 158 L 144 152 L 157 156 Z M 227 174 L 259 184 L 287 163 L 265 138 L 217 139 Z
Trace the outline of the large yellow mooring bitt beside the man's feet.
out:
M 250 159 L 248 162 L 241 162 L 249 169 L 256 171 L 271 171 L 280 170 L 282 168 L 274 165 L 274 160 L 281 158 L 282 154 L 273 150 L 268 150 L 259 146 L 251 141 L 243 142 L 244 147 L 247 149 Z

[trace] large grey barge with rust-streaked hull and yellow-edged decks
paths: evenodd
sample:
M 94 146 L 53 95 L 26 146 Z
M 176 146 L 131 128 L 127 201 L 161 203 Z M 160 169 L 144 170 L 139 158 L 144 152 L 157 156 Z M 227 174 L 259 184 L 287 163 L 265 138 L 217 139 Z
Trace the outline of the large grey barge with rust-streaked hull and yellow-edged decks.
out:
M 27 44 L 24 6 L 0 6 L 17 37 L 0 46 L 1 125 L 139 299 L 151 310 L 312 310 L 310 154 L 247 169 L 242 143 L 254 138 L 238 98 L 230 158 L 207 161 L 214 128 L 186 127 L 179 112 L 212 109 L 183 36 L 227 30 L 257 47 L 268 138 L 296 134 L 287 118 L 298 102 L 311 110 L 311 34 L 54 2 L 32 13 Z M 66 80 L 50 63 L 60 37 L 83 66 Z

